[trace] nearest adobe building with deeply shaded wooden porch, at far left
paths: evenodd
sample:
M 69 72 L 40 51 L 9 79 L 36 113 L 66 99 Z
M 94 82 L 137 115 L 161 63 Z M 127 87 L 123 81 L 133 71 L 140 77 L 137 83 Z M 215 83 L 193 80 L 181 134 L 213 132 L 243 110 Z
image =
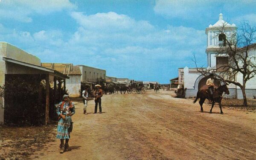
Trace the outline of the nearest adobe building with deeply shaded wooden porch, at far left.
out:
M 54 105 L 62 98 L 65 81 L 68 78 L 56 70 L 41 67 L 41 60 L 35 55 L 29 54 L 7 42 L 0 42 L 0 86 L 5 86 L 5 89 L 9 91 L 16 90 L 14 95 L 9 96 L 5 93 L 4 97 L 0 97 L 0 123 L 5 122 L 7 120 L 6 117 L 12 123 L 15 123 L 15 119 L 22 120 L 26 118 L 26 113 L 23 111 L 15 111 L 17 105 L 14 105 L 14 101 L 20 106 L 25 106 L 20 108 L 21 110 L 24 110 L 28 104 L 18 99 L 22 99 L 22 96 L 26 97 L 26 95 L 19 94 L 21 91 L 15 84 L 13 85 L 13 81 L 26 82 L 24 85 L 29 85 L 27 87 L 30 88 L 34 87 L 31 90 L 38 91 L 36 92 L 37 95 L 30 98 L 35 101 L 35 104 L 39 106 L 38 109 L 41 110 L 41 114 L 35 114 L 34 119 L 41 119 L 43 116 L 44 124 L 47 124 L 49 117 L 55 116 L 52 114 L 52 111 L 55 111 Z M 52 88 L 50 88 L 50 83 L 53 84 Z M 63 83 L 64 89 L 61 88 Z M 16 84 L 17 86 L 20 85 L 19 83 Z M 26 89 L 24 85 L 23 88 Z

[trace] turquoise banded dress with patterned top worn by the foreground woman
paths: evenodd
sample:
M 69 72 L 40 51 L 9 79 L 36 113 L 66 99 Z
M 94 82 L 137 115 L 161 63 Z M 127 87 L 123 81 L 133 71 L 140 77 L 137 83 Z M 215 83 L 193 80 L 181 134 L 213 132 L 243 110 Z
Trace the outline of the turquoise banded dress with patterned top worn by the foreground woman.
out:
M 61 108 L 61 105 L 63 105 L 63 108 Z M 73 102 L 60 102 L 56 112 L 58 116 L 60 116 L 60 114 L 67 115 L 67 113 L 75 114 L 75 105 Z M 70 139 L 70 132 L 73 129 L 72 123 L 73 122 L 72 122 L 71 116 L 66 116 L 65 119 L 60 118 L 58 121 L 56 138 Z

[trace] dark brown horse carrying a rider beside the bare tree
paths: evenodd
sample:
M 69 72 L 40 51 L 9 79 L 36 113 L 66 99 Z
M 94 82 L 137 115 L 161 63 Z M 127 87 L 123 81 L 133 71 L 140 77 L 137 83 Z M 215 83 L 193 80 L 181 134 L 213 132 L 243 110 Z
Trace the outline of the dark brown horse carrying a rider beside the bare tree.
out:
M 209 93 L 208 92 L 209 92 L 208 87 L 205 87 L 204 89 L 198 90 L 198 93 L 196 95 L 196 99 L 193 102 L 193 103 L 195 103 L 200 98 L 199 104 L 201 106 L 201 112 L 204 112 L 203 104 L 204 104 L 205 99 L 209 99 Z M 220 106 L 220 109 L 221 109 L 221 114 L 223 114 L 222 108 L 221 108 L 221 99 L 222 99 L 223 92 L 226 93 L 226 94 L 229 94 L 227 84 L 221 85 L 220 87 L 215 89 L 213 91 L 213 99 L 212 99 L 212 108 L 213 108 L 215 102 L 218 102 L 218 104 Z M 212 108 L 210 110 L 210 113 L 212 113 Z

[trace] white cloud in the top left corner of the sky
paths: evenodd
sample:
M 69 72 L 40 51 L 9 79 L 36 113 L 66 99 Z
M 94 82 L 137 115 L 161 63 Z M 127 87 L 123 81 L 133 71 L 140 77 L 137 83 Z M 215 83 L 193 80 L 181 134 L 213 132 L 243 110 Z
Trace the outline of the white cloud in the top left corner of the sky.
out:
M 46 15 L 63 9 L 76 9 L 69 0 L 2 0 L 0 1 L 0 19 L 12 19 L 32 22 L 34 13 Z

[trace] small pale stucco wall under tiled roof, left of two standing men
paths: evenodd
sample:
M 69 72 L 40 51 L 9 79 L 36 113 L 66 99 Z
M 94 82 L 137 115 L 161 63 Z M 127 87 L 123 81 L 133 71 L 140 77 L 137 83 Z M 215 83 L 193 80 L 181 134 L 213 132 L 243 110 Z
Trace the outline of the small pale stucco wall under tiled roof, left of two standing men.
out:
M 79 97 L 81 89 L 81 75 L 69 75 L 70 79 L 66 79 L 66 89 L 70 97 Z

